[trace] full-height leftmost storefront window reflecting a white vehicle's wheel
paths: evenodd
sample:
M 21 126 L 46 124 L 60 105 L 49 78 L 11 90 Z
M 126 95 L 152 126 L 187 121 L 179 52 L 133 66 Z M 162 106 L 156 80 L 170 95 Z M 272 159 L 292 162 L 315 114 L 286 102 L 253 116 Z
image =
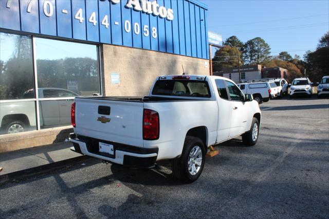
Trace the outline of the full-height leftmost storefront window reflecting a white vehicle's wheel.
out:
M 1 134 L 36 130 L 32 39 L 0 33 L 0 48 Z

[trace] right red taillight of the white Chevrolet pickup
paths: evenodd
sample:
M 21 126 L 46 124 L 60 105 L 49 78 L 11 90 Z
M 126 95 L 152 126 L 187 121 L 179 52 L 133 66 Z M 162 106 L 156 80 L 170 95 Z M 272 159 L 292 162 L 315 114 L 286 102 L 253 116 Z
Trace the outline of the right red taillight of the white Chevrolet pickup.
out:
M 143 139 L 156 140 L 159 138 L 159 114 L 152 109 L 143 112 Z

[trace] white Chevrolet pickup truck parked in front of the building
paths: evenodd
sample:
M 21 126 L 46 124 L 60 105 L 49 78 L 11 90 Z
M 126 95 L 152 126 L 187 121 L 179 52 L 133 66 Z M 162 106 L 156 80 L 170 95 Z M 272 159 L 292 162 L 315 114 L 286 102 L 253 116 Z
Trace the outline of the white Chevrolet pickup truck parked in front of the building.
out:
M 192 182 L 211 145 L 257 142 L 261 111 L 229 79 L 180 75 L 158 77 L 143 98 L 76 97 L 71 120 L 71 150 L 130 167 L 171 159 L 174 176 Z

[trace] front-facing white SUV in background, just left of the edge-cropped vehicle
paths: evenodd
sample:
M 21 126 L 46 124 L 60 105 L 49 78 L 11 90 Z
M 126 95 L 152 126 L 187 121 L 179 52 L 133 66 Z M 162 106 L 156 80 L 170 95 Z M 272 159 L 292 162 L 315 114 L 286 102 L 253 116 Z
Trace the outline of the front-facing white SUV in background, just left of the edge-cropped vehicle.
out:
M 310 82 L 308 78 L 295 78 L 293 83 L 290 85 L 290 98 L 294 96 L 312 96 L 311 85 L 313 83 Z

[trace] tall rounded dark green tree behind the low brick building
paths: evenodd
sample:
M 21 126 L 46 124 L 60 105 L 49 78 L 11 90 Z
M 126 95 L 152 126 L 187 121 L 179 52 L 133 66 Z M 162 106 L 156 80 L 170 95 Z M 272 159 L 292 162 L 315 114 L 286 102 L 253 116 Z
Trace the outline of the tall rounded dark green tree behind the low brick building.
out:
M 243 46 L 243 60 L 249 64 L 265 64 L 270 61 L 270 47 L 260 37 L 248 40 Z

